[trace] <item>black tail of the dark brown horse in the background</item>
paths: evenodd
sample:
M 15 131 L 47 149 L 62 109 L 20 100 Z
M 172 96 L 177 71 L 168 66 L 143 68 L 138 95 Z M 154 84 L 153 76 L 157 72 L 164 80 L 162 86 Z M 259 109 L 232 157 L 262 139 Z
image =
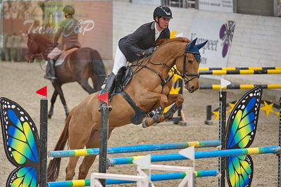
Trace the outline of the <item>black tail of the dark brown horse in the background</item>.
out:
M 104 63 L 101 60 L 101 56 L 99 55 L 99 52 L 96 50 L 91 51 L 91 57 L 92 57 L 92 68 L 94 75 L 96 77 L 95 83 L 94 83 L 94 89 L 96 91 L 101 90 L 101 85 L 104 84 L 104 79 L 106 78 L 106 67 L 104 67 Z

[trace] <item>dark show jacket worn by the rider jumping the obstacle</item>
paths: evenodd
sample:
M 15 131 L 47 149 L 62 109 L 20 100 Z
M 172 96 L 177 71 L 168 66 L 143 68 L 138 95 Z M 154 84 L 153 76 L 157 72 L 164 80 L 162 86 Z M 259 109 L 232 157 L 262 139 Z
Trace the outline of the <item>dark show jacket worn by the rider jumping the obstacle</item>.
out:
M 158 39 L 155 41 L 155 29 L 154 21 L 148 22 L 140 26 L 132 34 L 119 40 L 119 49 L 130 63 L 142 58 L 144 56 L 144 50 L 154 47 L 159 39 L 170 38 L 170 30 L 166 28 L 162 30 Z

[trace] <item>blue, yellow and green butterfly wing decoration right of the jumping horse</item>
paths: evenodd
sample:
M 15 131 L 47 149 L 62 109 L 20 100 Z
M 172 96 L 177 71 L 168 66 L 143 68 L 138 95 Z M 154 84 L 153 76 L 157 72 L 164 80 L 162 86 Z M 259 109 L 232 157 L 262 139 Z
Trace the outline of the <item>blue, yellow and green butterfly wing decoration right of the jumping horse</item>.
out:
M 249 148 L 256 135 L 262 88 L 247 92 L 235 105 L 227 121 L 226 148 Z M 227 182 L 229 186 L 251 186 L 254 163 L 250 155 L 227 157 Z

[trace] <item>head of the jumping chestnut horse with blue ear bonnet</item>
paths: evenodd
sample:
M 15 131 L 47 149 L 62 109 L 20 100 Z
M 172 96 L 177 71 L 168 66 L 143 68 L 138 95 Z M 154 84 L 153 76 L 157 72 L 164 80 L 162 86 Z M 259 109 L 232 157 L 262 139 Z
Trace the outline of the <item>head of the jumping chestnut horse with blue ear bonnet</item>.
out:
M 180 56 L 176 59 L 175 65 L 177 66 L 177 70 L 180 72 L 182 79 L 185 82 L 185 89 L 187 89 L 190 93 L 199 89 L 199 63 L 200 53 L 199 49 L 201 49 L 207 41 L 202 44 L 196 45 L 196 40 L 187 43 L 185 46 L 185 53 L 183 56 Z

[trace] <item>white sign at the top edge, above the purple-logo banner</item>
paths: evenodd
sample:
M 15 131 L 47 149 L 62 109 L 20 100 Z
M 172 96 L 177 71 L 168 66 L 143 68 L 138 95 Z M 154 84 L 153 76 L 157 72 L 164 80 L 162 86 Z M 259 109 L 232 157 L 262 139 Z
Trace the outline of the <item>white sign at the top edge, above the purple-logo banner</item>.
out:
M 232 0 L 199 0 L 199 10 L 233 13 Z

